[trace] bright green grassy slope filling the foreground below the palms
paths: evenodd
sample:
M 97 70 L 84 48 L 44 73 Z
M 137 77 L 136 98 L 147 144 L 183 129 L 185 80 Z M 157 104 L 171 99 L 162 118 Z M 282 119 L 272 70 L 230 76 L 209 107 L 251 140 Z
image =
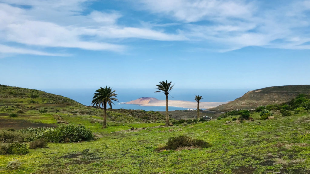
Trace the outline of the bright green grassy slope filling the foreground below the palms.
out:
M 89 116 L 63 116 L 99 132 L 95 141 L 49 143 L 48 149 L 26 155 L 0 155 L 0 173 L 310 173 L 310 115 L 275 115 L 271 120 L 226 124 L 231 117 L 204 123 L 157 127 L 163 123 L 90 123 Z M 146 129 L 126 131 L 129 126 Z M 173 129 L 173 131 L 169 131 Z M 123 130 L 123 131 L 122 131 Z M 206 132 L 208 131 L 208 132 Z M 212 144 L 191 150 L 156 149 L 169 137 L 188 135 Z M 81 152 L 89 148 L 89 154 Z M 13 158 L 23 165 L 16 171 L 5 166 Z

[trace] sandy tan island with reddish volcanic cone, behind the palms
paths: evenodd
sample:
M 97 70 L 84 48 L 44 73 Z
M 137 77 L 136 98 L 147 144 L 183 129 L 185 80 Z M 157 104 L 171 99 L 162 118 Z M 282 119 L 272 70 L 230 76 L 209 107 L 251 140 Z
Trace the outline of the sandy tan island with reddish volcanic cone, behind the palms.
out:
M 199 106 L 202 109 L 217 107 L 227 102 L 200 102 Z M 166 100 L 158 100 L 153 97 L 142 97 L 130 102 L 122 102 L 120 104 L 135 104 L 140 106 L 166 106 Z M 184 107 L 184 108 L 196 108 L 197 102 L 183 101 L 183 100 L 169 100 L 170 107 Z

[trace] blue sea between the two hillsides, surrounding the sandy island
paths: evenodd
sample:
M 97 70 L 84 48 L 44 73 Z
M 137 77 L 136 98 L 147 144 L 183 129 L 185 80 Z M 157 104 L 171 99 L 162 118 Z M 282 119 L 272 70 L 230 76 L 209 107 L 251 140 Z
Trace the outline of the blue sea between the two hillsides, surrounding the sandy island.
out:
M 159 100 L 165 100 L 163 93 L 154 93 L 155 89 L 117 89 L 117 99 L 114 102 L 113 109 L 142 109 L 145 111 L 165 111 L 166 107 L 145 107 L 133 104 L 118 104 L 120 102 L 129 102 L 141 97 L 154 97 Z M 39 89 L 47 93 L 62 95 L 71 98 L 83 105 L 90 106 L 94 93 L 97 89 Z M 252 89 L 172 89 L 169 100 L 184 100 L 194 102 L 195 95 L 203 97 L 201 102 L 229 102 L 241 97 Z M 172 98 L 173 97 L 173 98 Z M 183 107 L 169 107 L 169 111 L 184 110 Z

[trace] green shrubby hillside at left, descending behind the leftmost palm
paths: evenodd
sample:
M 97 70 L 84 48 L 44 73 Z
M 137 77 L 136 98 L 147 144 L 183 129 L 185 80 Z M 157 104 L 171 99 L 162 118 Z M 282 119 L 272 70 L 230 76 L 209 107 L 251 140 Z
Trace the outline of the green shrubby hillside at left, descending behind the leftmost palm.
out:
M 12 113 L 18 117 L 10 117 Z M 108 109 L 108 125 L 161 122 L 164 119 L 158 112 Z M 0 129 L 55 127 L 59 123 L 86 124 L 102 131 L 101 109 L 35 89 L 0 85 Z

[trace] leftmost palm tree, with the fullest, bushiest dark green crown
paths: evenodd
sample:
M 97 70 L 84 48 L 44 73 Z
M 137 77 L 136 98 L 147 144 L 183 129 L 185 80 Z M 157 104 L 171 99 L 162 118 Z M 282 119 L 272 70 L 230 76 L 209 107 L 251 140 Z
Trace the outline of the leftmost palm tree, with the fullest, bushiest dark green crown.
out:
M 107 103 L 109 104 L 110 108 L 112 109 L 112 104 L 114 105 L 113 101 L 118 100 L 114 97 L 116 97 L 117 94 L 115 94 L 115 90 L 112 91 L 112 88 L 105 86 L 105 88 L 101 88 L 96 90 L 96 93 L 94 94 L 93 100 L 91 101 L 91 104 L 95 107 L 100 107 L 102 105 L 102 108 L 104 110 L 104 116 L 103 116 L 103 128 L 107 127 Z M 115 105 L 114 105 L 115 106 Z

